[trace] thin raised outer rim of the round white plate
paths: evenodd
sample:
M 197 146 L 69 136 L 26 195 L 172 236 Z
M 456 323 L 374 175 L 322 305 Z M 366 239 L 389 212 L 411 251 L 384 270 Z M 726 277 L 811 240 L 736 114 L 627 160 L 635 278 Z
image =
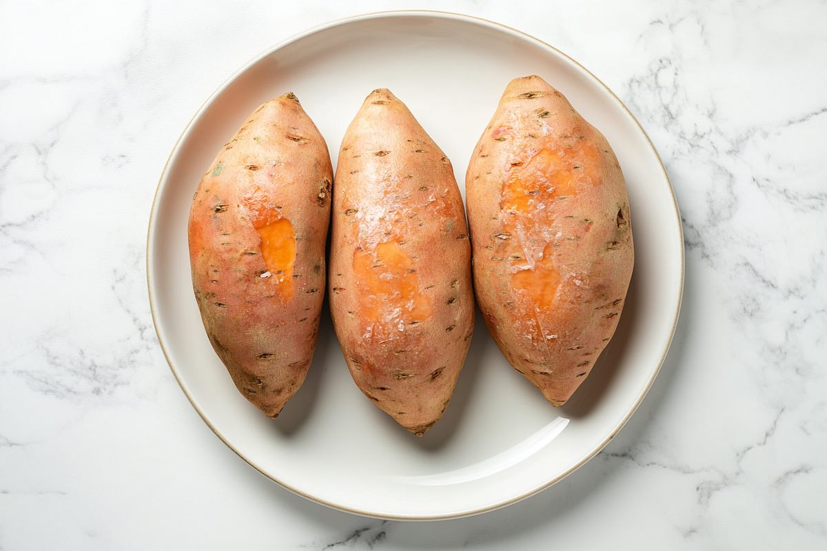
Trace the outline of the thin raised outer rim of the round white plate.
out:
M 552 54 L 561 56 L 562 59 L 564 59 L 567 62 L 569 62 L 570 64 L 572 64 L 576 69 L 579 69 L 579 70 L 583 71 L 584 73 L 586 73 L 588 76 L 593 78 L 596 83 L 599 83 L 600 86 L 602 88 L 604 88 L 605 91 L 608 92 L 611 97 L 614 97 L 614 99 L 619 103 L 620 107 L 623 107 L 624 111 L 629 116 L 629 118 L 631 118 L 631 120 L 634 122 L 634 124 L 636 126 L 638 126 L 638 130 L 642 133 L 643 137 L 646 139 L 646 141 L 649 145 L 649 148 L 652 150 L 653 154 L 655 155 L 655 158 L 657 159 L 657 163 L 660 165 L 660 169 L 662 171 L 663 177 L 666 178 L 666 181 L 667 181 L 667 184 L 668 184 L 668 187 L 669 187 L 669 192 L 672 195 L 672 206 L 675 209 L 675 216 L 676 216 L 676 220 L 678 222 L 677 226 L 678 226 L 678 235 L 680 237 L 680 251 L 679 252 L 680 252 L 680 256 L 681 256 L 681 270 L 680 270 L 679 289 L 678 289 L 678 293 L 677 293 L 677 302 L 676 302 L 676 306 L 675 306 L 675 314 L 674 314 L 674 317 L 673 317 L 673 320 L 672 320 L 672 328 L 669 331 L 669 337 L 666 340 L 666 343 L 665 343 L 665 346 L 662 350 L 660 359 L 657 360 L 657 366 L 655 367 L 655 369 L 652 373 L 652 376 L 649 378 L 649 380 L 646 384 L 646 387 L 643 388 L 643 391 L 640 392 L 640 394 L 638 395 L 638 397 L 634 401 L 633 405 L 629 408 L 629 411 L 627 411 L 626 415 L 621 420 L 619 420 L 619 422 L 616 425 L 614 425 L 614 428 L 609 432 L 609 435 L 607 435 L 605 437 L 605 439 L 603 439 L 600 443 L 596 444 L 595 447 L 593 449 L 591 449 L 587 454 L 585 454 L 583 456 L 583 458 L 581 458 L 580 461 L 578 461 L 577 463 L 572 465 L 570 468 L 567 468 L 564 472 L 558 474 L 556 477 L 553 477 L 551 480 L 549 480 L 547 482 L 544 482 L 543 484 L 539 485 L 538 487 L 534 487 L 533 489 L 529 490 L 528 492 L 523 492 L 519 496 L 514 496 L 514 497 L 511 497 L 507 500 L 500 501 L 500 502 L 492 504 L 492 505 L 480 506 L 480 507 L 476 507 L 474 509 L 470 509 L 470 510 L 467 510 L 467 511 L 454 511 L 452 513 L 442 513 L 442 514 L 437 514 L 437 515 L 397 515 L 397 514 L 382 513 L 382 512 L 379 512 L 379 511 L 361 510 L 361 509 L 356 509 L 356 508 L 349 507 L 349 506 L 344 506 L 342 504 L 334 503 L 332 501 L 327 501 L 327 500 L 322 499 L 318 496 L 313 496 L 313 495 L 309 494 L 308 492 L 304 492 L 304 491 L 300 490 L 297 487 L 291 486 L 288 483 L 286 483 L 284 481 L 281 481 L 278 477 L 275 477 L 272 474 L 268 473 L 264 468 L 261 468 L 259 465 L 257 465 L 255 463 L 255 461 L 253 461 L 251 458 L 247 458 L 245 456 L 245 454 L 241 453 L 241 451 L 239 449 L 237 449 L 235 446 L 233 446 L 227 440 L 227 438 L 225 438 L 225 436 L 222 434 L 222 432 L 220 430 L 218 430 L 218 428 L 215 425 L 213 425 L 213 423 L 208 419 L 208 417 L 205 415 L 204 411 L 202 410 L 201 406 L 198 405 L 198 402 L 190 394 L 189 389 L 186 387 L 186 385 L 184 384 L 184 381 L 182 380 L 182 378 L 179 375 L 178 369 L 175 368 L 174 363 L 170 359 L 170 354 L 166 349 L 164 339 L 161 336 L 161 331 L 159 330 L 159 319 L 158 319 L 158 315 L 155 311 L 155 301 L 156 301 L 156 299 L 155 299 L 155 290 L 154 290 L 154 285 L 153 285 L 152 278 L 151 278 L 151 273 L 152 273 L 153 268 L 154 268 L 154 266 L 153 266 L 154 263 L 153 263 L 152 259 L 153 259 L 153 253 L 155 253 L 155 247 L 153 246 L 152 238 L 153 238 L 153 235 L 155 233 L 154 229 L 155 229 L 155 226 L 156 226 L 156 223 L 157 223 L 157 218 L 158 218 L 158 198 L 159 198 L 161 192 L 163 191 L 163 189 L 166 187 L 166 180 L 168 178 L 168 174 L 169 174 L 169 170 L 170 170 L 170 162 L 178 154 L 181 143 L 184 140 L 184 136 L 189 134 L 189 131 L 191 130 L 191 128 L 193 126 L 193 122 L 199 116 L 201 116 L 203 114 L 204 108 L 206 106 L 208 106 L 210 103 L 212 103 L 213 100 L 216 97 L 218 97 L 218 95 L 221 94 L 224 91 L 225 88 L 227 88 L 231 83 L 233 83 L 236 80 L 236 78 L 238 78 L 241 74 L 245 73 L 248 69 L 251 68 L 251 66 L 253 66 L 254 64 L 261 61 L 261 59 L 265 59 L 265 57 L 275 53 L 275 51 L 280 50 L 280 49 L 284 48 L 285 46 L 287 46 L 289 44 L 292 44 L 295 41 L 302 40 L 307 36 L 311 36 L 315 33 L 320 32 L 320 31 L 325 31 L 325 30 L 327 30 L 329 28 L 332 28 L 332 27 L 344 26 L 344 25 L 347 25 L 347 24 L 355 22 L 355 21 L 364 21 L 364 20 L 369 20 L 369 19 L 380 19 L 380 18 L 383 18 L 383 17 L 442 17 L 442 18 L 445 18 L 445 19 L 452 19 L 452 20 L 457 20 L 457 21 L 464 21 L 464 22 L 468 22 L 468 23 L 473 23 L 473 24 L 476 24 L 476 25 L 487 26 L 489 28 L 493 28 L 493 29 L 498 30 L 498 31 L 504 31 L 507 34 L 519 36 L 519 38 L 521 38 L 523 40 L 527 40 L 528 42 L 533 42 L 535 45 L 538 45 L 541 48 L 552 52 Z M 283 487 L 284 489 L 288 490 L 289 492 L 294 493 L 297 496 L 304 497 L 305 499 L 308 499 L 309 501 L 313 501 L 314 503 L 318 503 L 320 505 L 330 507 L 331 509 L 334 509 L 336 511 L 343 511 L 343 512 L 347 512 L 347 513 L 351 513 L 353 515 L 361 515 L 361 516 L 366 516 L 366 517 L 375 518 L 375 519 L 381 519 L 381 520 L 414 520 L 414 521 L 460 519 L 460 518 L 465 518 L 465 517 L 468 517 L 468 516 L 480 515 L 480 514 L 483 514 L 483 513 L 486 513 L 486 512 L 490 512 L 490 511 L 496 511 L 497 509 L 501 509 L 503 507 L 513 505 L 514 503 L 517 503 L 518 501 L 523 501 L 524 499 L 527 499 L 528 497 L 535 496 L 539 492 L 543 492 L 543 490 L 546 490 L 547 488 L 552 487 L 554 484 L 556 484 L 557 482 L 560 482 L 563 478 L 566 478 L 571 473 L 574 473 L 577 469 L 581 468 L 583 465 L 588 463 L 592 458 L 595 457 L 595 455 L 599 454 L 600 451 L 602 449 L 604 449 L 605 446 L 607 444 L 609 444 L 609 442 L 611 442 L 614 439 L 615 436 L 618 435 L 619 431 L 624 428 L 624 426 L 629 422 L 629 419 L 631 419 L 631 417 L 634 415 L 635 411 L 638 410 L 638 407 L 640 406 L 640 404 L 643 402 L 643 399 L 648 394 L 649 389 L 652 388 L 652 386 L 655 382 L 655 379 L 657 379 L 657 375 L 660 373 L 662 365 L 663 365 L 664 361 L 666 360 L 667 354 L 668 354 L 669 349 L 672 345 L 672 340 L 675 337 L 675 332 L 676 332 L 676 328 L 677 328 L 678 319 L 681 315 L 681 305 L 682 305 L 682 302 L 683 302 L 683 292 L 684 292 L 684 279 L 685 279 L 685 273 L 686 273 L 686 250 L 685 250 L 685 245 L 684 245 L 684 235 L 683 235 L 682 221 L 683 221 L 683 218 L 681 217 L 681 211 L 680 211 L 680 208 L 678 207 L 677 197 L 676 197 L 676 194 L 675 194 L 675 188 L 672 186 L 672 180 L 669 178 L 669 174 L 667 173 L 667 169 L 663 164 L 663 161 L 661 159 L 660 154 L 657 153 L 657 148 L 653 144 L 651 138 L 649 138 L 648 133 L 643 129 L 643 126 L 640 124 L 640 121 L 638 121 L 637 117 L 634 116 L 634 114 L 629 110 L 629 107 L 626 106 L 626 104 L 617 96 L 617 94 L 614 93 L 614 91 L 612 91 L 611 88 L 609 88 L 609 86 L 607 86 L 602 80 L 600 80 L 600 78 L 595 76 L 595 74 L 593 74 L 589 69 L 586 69 L 586 67 L 584 67 L 582 64 L 580 64 L 576 59 L 572 58 L 570 55 L 567 55 L 562 50 L 557 49 L 556 47 L 548 44 L 546 41 L 541 40 L 538 37 L 533 36 L 531 34 L 528 34 L 527 32 L 519 31 L 518 29 L 514 29 L 514 27 L 504 25 L 503 23 L 500 23 L 500 22 L 497 22 L 497 21 L 491 21 L 489 19 L 485 19 L 484 17 L 471 16 L 471 15 L 467 15 L 467 14 L 464 14 L 464 13 L 458 13 L 458 12 L 444 12 L 444 11 L 440 11 L 440 10 L 427 10 L 427 9 L 414 9 L 414 10 L 401 9 L 401 10 L 384 10 L 384 11 L 378 11 L 378 12 L 364 12 L 364 13 L 356 14 L 354 16 L 341 17 L 341 18 L 333 19 L 332 21 L 327 21 L 327 22 L 322 23 L 318 26 L 313 26 L 311 28 L 305 29 L 304 31 L 299 31 L 298 33 L 294 34 L 294 36 L 290 36 L 289 38 L 287 38 L 285 40 L 282 40 L 282 41 L 280 41 L 279 43 L 277 43 L 275 45 L 271 45 L 270 47 L 268 47 L 265 50 L 261 51 L 259 54 L 257 54 L 252 59 L 250 59 L 245 64 L 243 64 L 240 69 L 238 69 L 233 74 L 231 74 L 224 82 L 222 82 L 218 86 L 218 88 L 216 88 L 215 91 L 212 94 L 210 94 L 207 97 L 207 99 L 205 99 L 204 102 L 198 107 L 198 109 L 194 112 L 194 115 L 190 117 L 189 121 L 184 126 L 184 130 L 181 131 L 181 133 L 178 136 L 178 139 L 175 140 L 175 143 L 173 145 L 172 150 L 170 150 L 170 154 L 166 159 L 166 162 L 164 164 L 164 169 L 162 169 L 162 171 L 161 171 L 160 178 L 158 180 L 158 184 L 155 188 L 155 194 L 152 197 L 150 219 L 149 219 L 149 223 L 148 223 L 148 226 L 147 226 L 147 232 L 146 232 L 146 287 L 147 287 L 147 291 L 149 293 L 149 302 L 150 302 L 150 311 L 151 311 L 151 316 L 152 316 L 152 325 L 153 325 L 153 328 L 155 329 L 155 335 L 158 339 L 158 343 L 160 344 L 160 349 L 161 349 L 162 353 L 164 354 L 164 358 L 166 359 L 166 363 L 170 366 L 170 371 L 172 371 L 175 380 L 178 382 L 179 387 L 184 392 L 184 396 L 187 397 L 187 400 L 189 400 L 189 403 L 194 407 L 195 411 L 198 412 L 198 416 L 200 416 L 201 419 L 203 420 L 203 422 L 206 425 L 208 425 L 210 430 L 213 430 L 213 433 L 216 436 L 218 436 L 218 439 L 221 439 L 221 441 L 223 442 L 224 445 L 227 446 L 227 448 L 232 449 L 232 451 L 235 454 L 237 454 L 237 456 L 239 458 L 241 458 L 245 463 L 250 465 L 252 468 L 255 468 L 256 471 L 258 471 L 259 473 L 261 473 L 265 477 L 269 478 L 271 481 L 275 482 L 280 487 Z

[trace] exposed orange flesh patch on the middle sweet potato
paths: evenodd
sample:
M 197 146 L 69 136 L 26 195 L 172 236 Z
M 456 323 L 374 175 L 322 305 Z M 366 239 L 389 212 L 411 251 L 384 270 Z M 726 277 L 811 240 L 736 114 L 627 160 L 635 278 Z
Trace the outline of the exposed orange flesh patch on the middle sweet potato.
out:
M 419 289 L 414 262 L 397 241 L 376 245 L 375 254 L 357 249 L 353 273 L 368 335 L 374 334 L 374 327 L 390 333 L 431 316 L 431 303 Z

